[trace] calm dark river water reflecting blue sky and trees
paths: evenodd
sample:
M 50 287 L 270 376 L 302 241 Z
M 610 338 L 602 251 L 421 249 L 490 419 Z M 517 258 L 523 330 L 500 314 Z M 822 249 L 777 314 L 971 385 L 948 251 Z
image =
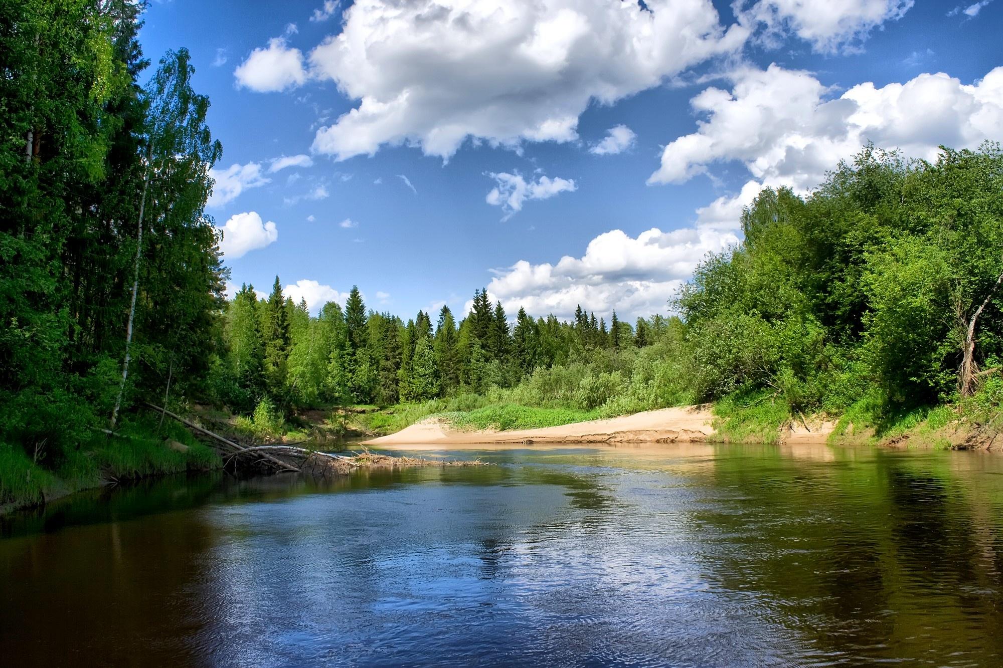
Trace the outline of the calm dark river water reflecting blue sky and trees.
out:
M 1003 662 L 999 455 L 475 454 L 498 465 L 174 478 L 4 521 L 0 663 Z

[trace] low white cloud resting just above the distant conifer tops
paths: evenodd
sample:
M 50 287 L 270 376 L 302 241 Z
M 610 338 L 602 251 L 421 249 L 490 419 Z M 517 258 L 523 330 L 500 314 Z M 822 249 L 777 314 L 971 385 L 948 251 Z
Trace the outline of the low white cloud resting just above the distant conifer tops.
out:
M 612 230 L 593 239 L 581 258 L 565 256 L 556 265 L 520 260 L 495 272 L 487 293 L 510 313 L 522 306 L 535 316 L 570 319 L 579 304 L 607 319 L 614 309 L 624 319 L 666 313 L 700 260 L 737 243 L 734 233 L 711 229 L 653 228 L 637 238 Z

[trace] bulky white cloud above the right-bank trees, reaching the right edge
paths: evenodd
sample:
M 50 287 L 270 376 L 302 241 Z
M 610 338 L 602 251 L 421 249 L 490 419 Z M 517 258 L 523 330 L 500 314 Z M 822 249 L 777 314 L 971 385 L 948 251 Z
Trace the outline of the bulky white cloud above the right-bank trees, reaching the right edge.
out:
M 740 161 L 765 186 L 805 191 L 868 140 L 931 159 L 938 145 L 974 147 L 1003 127 L 1003 67 L 966 85 L 944 73 L 878 88 L 860 83 L 837 98 L 809 72 L 770 65 L 732 74 L 731 91 L 691 100 L 706 114 L 671 141 L 649 184 L 679 184 L 716 162 Z

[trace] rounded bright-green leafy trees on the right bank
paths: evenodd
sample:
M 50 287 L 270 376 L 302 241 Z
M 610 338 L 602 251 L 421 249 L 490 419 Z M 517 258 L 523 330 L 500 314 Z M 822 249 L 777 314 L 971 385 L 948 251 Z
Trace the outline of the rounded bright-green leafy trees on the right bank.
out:
M 764 191 L 679 296 L 693 389 L 893 415 L 1003 398 L 1003 153 L 867 146 L 812 195 Z M 994 398 L 993 398 L 994 397 Z

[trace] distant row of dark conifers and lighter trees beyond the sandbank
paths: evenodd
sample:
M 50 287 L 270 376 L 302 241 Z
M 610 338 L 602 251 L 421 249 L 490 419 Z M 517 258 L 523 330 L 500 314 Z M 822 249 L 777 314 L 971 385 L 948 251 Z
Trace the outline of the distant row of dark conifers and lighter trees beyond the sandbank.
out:
M 458 393 L 510 388 L 538 369 L 566 366 L 597 352 L 643 348 L 678 319 L 639 318 L 636 327 L 616 312 L 607 327 L 579 306 L 573 322 L 553 314 L 515 321 L 486 290 L 458 322 L 448 306 L 432 321 L 423 311 L 406 323 L 367 310 L 357 287 L 344 309 L 328 302 L 312 317 L 305 301 L 283 295 L 276 277 L 267 299 L 244 285 L 229 304 L 224 327 L 228 354 L 214 368 L 217 395 L 239 412 L 262 400 L 283 412 L 324 405 L 420 402 Z

